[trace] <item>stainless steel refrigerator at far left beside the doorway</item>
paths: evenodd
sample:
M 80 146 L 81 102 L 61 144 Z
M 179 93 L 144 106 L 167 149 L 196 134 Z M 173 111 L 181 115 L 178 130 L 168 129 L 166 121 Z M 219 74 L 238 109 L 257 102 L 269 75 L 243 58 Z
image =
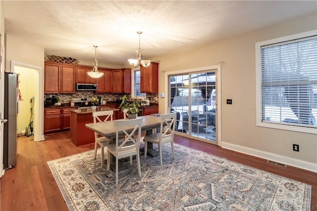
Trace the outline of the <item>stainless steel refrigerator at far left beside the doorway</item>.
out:
M 16 164 L 16 116 L 17 77 L 16 73 L 4 73 L 4 119 L 3 124 L 3 169 Z

